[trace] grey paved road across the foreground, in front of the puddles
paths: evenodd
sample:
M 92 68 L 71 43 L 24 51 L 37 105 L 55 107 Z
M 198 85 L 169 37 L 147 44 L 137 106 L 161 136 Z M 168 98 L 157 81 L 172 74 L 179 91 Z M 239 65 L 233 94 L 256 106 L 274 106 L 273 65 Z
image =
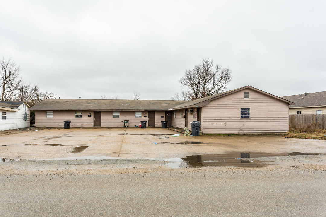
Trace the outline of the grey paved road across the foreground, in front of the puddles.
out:
M 326 171 L 0 175 L 5 216 L 326 216 Z

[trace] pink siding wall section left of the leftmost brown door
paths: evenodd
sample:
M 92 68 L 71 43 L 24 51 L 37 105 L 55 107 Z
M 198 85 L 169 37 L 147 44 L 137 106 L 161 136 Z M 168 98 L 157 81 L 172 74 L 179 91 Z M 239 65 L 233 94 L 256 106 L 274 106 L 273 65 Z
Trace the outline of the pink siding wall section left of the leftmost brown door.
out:
M 53 117 L 46 117 L 46 111 L 35 111 L 36 127 L 64 127 L 64 122 L 70 120 L 71 127 L 93 127 L 93 111 L 82 111 L 82 117 L 75 117 L 76 111 L 53 111 Z M 92 117 L 88 117 L 92 113 Z

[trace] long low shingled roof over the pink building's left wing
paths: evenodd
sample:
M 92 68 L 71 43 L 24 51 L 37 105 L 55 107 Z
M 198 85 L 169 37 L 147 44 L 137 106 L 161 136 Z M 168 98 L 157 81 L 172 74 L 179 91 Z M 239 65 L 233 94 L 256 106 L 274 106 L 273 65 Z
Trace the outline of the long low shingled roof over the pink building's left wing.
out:
M 187 101 L 175 100 L 79 100 L 45 99 L 34 105 L 32 110 L 168 110 Z

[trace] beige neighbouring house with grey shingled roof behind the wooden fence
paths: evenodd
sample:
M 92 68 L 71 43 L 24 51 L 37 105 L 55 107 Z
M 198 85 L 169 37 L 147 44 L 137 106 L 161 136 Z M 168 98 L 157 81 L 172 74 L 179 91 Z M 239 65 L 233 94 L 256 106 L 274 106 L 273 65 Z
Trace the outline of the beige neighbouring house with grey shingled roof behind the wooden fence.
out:
M 282 98 L 295 103 L 295 105 L 289 106 L 290 115 L 326 114 L 326 91 L 305 92 L 303 94 L 283 96 Z

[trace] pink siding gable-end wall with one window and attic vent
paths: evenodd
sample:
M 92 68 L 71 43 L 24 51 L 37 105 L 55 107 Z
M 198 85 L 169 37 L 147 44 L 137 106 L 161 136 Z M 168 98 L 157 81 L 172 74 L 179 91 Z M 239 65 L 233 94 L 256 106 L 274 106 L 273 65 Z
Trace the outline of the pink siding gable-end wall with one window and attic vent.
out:
M 244 91 L 249 91 L 249 99 L 244 99 Z M 240 108 L 250 108 L 250 119 L 240 118 Z M 244 89 L 209 102 L 202 108 L 201 122 L 203 133 L 238 133 L 240 129 L 245 133 L 287 132 L 289 105 Z

